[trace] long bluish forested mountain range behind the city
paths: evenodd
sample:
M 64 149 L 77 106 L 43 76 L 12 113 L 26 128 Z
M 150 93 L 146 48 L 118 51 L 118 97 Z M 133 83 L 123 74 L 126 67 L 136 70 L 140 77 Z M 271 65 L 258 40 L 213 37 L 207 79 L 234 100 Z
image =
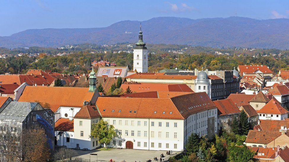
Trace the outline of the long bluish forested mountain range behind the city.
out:
M 0 37 L 0 47 L 60 47 L 136 42 L 139 21 L 121 21 L 103 28 L 30 29 Z M 188 19 L 157 17 L 142 21 L 144 41 L 208 47 L 289 49 L 289 19 L 257 20 L 245 17 Z

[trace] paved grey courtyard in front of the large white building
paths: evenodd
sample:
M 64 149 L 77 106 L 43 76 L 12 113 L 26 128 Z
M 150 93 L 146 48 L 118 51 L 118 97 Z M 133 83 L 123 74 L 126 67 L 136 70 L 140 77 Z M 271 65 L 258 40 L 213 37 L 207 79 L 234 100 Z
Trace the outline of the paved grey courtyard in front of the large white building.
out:
M 121 162 L 125 160 L 126 162 L 146 162 L 151 159 L 152 162 L 156 162 L 153 158 L 156 156 L 158 161 L 160 159 L 160 154 L 163 153 L 164 158 L 167 159 L 169 155 L 166 155 L 166 151 L 150 151 L 150 150 L 134 150 L 134 149 L 113 149 L 109 151 L 99 151 L 99 150 L 76 150 L 78 156 L 84 160 L 89 160 L 90 153 L 96 153 L 97 156 L 91 156 L 91 162 L 96 161 L 109 161 L 112 159 L 115 162 Z M 176 152 L 173 152 L 176 153 Z

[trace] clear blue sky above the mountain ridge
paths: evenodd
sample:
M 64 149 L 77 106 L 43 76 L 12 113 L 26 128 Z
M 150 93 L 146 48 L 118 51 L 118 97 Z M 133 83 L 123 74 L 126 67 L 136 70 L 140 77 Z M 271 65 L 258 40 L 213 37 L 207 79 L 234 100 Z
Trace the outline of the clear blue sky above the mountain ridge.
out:
M 289 18 L 289 0 L 0 0 L 0 36 L 27 29 L 107 27 L 153 17 Z

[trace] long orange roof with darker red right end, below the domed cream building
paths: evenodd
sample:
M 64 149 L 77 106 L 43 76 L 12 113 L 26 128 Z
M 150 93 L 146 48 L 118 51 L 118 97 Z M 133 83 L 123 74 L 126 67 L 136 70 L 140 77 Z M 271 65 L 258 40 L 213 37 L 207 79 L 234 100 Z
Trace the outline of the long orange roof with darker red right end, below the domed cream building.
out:
M 125 91 L 127 87 L 132 92 L 147 91 L 173 91 L 173 92 L 194 92 L 186 84 L 166 84 L 166 83 L 139 83 L 139 84 L 122 84 L 121 88 Z

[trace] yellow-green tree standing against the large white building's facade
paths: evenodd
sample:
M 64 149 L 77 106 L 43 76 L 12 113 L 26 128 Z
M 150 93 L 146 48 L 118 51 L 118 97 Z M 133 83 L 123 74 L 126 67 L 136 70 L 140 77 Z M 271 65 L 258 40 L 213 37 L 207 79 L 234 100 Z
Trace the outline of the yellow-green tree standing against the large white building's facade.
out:
M 107 121 L 99 120 L 97 123 L 92 123 L 91 136 L 99 138 L 99 142 L 106 144 L 109 143 L 116 135 L 113 125 L 108 125 Z

